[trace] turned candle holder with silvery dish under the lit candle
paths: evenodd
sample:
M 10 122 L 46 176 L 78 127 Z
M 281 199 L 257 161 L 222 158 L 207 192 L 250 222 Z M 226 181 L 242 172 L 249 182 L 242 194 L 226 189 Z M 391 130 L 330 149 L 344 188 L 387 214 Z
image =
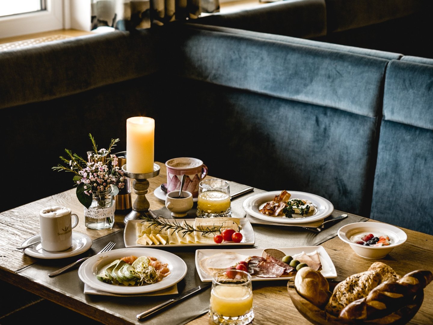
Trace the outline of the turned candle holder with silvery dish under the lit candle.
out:
M 149 213 L 150 203 L 146 198 L 147 190 L 149 188 L 148 179 L 158 176 L 160 169 L 161 167 L 154 163 L 153 172 L 133 173 L 126 170 L 126 164 L 122 166 L 124 175 L 130 179 L 134 179 L 132 182 L 132 188 L 137 195 L 136 200 L 132 204 L 132 211 L 126 214 L 125 218 L 123 218 L 125 224 L 128 220 L 139 220 L 143 214 L 151 216 Z

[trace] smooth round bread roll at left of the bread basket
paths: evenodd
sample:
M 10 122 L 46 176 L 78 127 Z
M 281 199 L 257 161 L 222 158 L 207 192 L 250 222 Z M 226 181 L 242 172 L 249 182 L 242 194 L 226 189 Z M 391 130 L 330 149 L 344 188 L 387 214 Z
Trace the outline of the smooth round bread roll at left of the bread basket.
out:
M 296 291 L 314 306 L 323 307 L 328 302 L 331 292 L 329 283 L 320 271 L 305 266 L 295 276 Z

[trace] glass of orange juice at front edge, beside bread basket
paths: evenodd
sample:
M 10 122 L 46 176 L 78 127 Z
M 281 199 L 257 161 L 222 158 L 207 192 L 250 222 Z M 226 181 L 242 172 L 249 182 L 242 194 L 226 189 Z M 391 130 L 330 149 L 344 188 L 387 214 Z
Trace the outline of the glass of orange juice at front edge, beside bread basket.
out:
M 215 324 L 244 325 L 254 319 L 251 275 L 242 270 L 215 273 L 210 292 L 209 317 Z

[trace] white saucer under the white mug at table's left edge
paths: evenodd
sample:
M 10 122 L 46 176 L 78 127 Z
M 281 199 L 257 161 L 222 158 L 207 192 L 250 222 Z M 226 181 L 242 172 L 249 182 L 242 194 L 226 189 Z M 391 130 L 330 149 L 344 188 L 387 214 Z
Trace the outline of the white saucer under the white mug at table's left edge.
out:
M 30 237 L 29 239 L 24 241 L 21 246 L 33 243 L 38 240 L 41 240 L 41 235 L 35 235 L 33 237 Z M 47 252 L 46 250 L 42 249 L 42 244 L 38 243 L 34 246 L 27 247 L 24 250 L 24 253 L 32 257 L 44 259 L 65 258 L 84 253 L 90 248 L 90 246 L 92 246 L 92 240 L 89 236 L 72 231 L 72 247 L 68 250 L 64 250 L 62 252 Z

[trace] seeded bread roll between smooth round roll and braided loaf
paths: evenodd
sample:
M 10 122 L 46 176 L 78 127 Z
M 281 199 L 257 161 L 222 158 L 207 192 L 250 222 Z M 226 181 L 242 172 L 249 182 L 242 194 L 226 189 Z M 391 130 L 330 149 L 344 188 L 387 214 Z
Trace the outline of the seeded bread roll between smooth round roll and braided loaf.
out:
M 381 279 L 381 274 L 376 271 L 365 271 L 347 277 L 334 288 L 325 306 L 326 312 L 338 316 L 349 303 L 367 296 L 372 289 L 378 286 Z

